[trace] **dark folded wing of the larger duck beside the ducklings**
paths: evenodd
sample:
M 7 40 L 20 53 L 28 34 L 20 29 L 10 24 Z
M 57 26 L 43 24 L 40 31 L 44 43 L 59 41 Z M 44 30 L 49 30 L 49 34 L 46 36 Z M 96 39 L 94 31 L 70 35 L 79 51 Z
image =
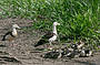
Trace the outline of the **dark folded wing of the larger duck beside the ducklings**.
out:
M 50 37 L 52 37 L 52 36 L 53 36 L 53 33 L 52 33 L 52 32 L 46 33 L 46 34 L 41 37 L 41 40 L 40 40 L 37 44 L 34 44 L 34 47 L 40 46 L 40 45 L 46 44 L 46 43 L 49 43 L 48 40 L 49 40 Z

